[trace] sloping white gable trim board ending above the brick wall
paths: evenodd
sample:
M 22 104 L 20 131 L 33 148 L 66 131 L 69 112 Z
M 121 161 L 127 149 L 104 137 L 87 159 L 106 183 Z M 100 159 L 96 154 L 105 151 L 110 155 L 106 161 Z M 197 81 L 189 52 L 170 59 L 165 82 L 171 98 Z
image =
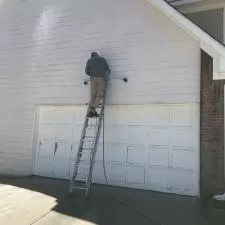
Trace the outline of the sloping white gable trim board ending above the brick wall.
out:
M 213 57 L 213 79 L 225 79 L 225 47 L 164 0 L 147 0 L 175 24 L 200 42 L 200 47 Z

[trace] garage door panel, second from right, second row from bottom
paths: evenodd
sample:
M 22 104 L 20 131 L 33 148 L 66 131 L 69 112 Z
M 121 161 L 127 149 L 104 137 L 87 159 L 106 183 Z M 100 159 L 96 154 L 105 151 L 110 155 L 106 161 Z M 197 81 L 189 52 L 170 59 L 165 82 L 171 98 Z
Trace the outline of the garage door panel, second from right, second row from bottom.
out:
M 148 161 L 150 166 L 169 166 L 169 149 L 151 147 L 149 150 Z

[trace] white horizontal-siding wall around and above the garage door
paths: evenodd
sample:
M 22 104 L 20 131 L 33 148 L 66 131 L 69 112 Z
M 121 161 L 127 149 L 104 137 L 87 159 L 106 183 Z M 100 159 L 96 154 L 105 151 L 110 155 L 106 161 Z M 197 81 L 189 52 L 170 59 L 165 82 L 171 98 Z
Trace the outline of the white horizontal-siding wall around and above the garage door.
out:
M 198 103 L 199 44 L 146 0 L 8 0 L 0 22 L 0 171 L 32 172 L 38 105 L 88 101 L 92 50 L 108 60 L 112 104 Z

